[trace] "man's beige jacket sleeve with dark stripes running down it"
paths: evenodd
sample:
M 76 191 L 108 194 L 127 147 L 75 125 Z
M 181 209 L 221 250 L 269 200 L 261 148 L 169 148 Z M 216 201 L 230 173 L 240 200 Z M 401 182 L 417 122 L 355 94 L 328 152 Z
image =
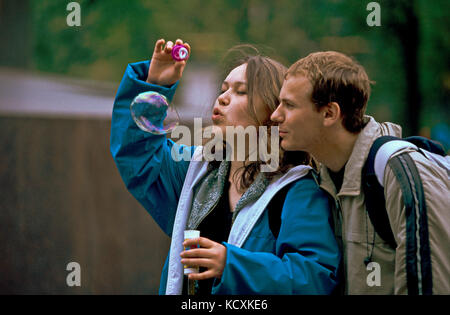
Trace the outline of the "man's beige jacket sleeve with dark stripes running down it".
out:
M 418 152 L 409 156 L 419 172 L 424 203 L 420 187 L 416 185 L 412 189 L 415 210 L 406 211 L 404 196 L 391 166 L 386 167 L 384 176 L 386 209 L 397 242 L 394 293 L 449 294 L 450 184 L 447 173 Z

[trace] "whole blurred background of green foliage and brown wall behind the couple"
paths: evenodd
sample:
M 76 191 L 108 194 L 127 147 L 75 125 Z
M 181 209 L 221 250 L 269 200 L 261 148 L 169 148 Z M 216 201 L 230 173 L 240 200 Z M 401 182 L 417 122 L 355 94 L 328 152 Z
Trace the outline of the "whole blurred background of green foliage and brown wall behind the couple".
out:
M 355 57 L 376 83 L 368 114 L 450 148 L 446 0 L 0 0 L 0 293 L 155 294 L 169 238 L 127 192 L 109 153 L 112 102 L 128 63 L 159 38 L 192 55 L 174 103 L 209 117 L 226 50 L 255 44 L 290 65 Z M 66 265 L 81 266 L 68 287 Z

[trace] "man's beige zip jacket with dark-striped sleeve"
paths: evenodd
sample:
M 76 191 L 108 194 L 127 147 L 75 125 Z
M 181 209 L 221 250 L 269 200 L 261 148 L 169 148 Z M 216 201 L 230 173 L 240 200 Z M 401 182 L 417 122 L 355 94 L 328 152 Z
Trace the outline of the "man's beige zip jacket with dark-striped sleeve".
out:
M 372 143 L 379 136 L 401 137 L 401 127 L 392 123 L 378 123 L 367 116 L 369 122 L 359 134 L 353 152 L 345 166 L 344 179 L 339 192 L 336 192 L 328 169 L 320 169 L 320 185 L 336 200 L 334 217 L 336 236 L 342 240 L 344 292 L 346 294 L 407 294 L 407 281 L 422 285 L 429 275 L 423 273 L 427 261 L 431 261 L 431 282 L 433 294 L 450 294 L 450 185 L 445 170 L 430 162 L 421 153 L 404 149 L 400 154 L 410 151 L 423 182 L 427 224 L 417 219 L 415 235 L 408 232 L 406 219 L 411 213 L 405 213 L 402 192 L 388 164 L 384 177 L 386 209 L 397 248 L 392 249 L 378 234 L 370 222 L 364 204 L 361 187 L 361 171 L 369 154 Z M 394 155 L 397 155 L 394 154 Z M 420 216 L 417 216 L 420 217 Z M 411 221 L 409 221 L 411 222 Z M 413 221 L 414 222 L 414 221 Z M 421 232 L 428 230 L 428 240 Z M 421 238 L 422 237 L 422 238 Z M 406 240 L 417 242 L 417 251 L 406 251 Z M 424 243 L 425 242 L 425 243 Z M 428 242 L 429 257 L 420 250 L 421 244 Z M 372 252 L 373 251 L 373 252 Z M 364 259 L 372 252 L 373 263 L 366 264 Z M 409 268 L 409 273 L 407 273 Z M 412 280 L 407 280 L 408 277 Z

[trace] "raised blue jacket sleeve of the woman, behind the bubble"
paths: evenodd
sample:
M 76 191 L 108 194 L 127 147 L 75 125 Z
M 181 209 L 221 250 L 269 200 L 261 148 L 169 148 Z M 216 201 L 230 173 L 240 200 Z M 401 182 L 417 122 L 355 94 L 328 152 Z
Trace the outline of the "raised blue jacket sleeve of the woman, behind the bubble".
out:
M 110 150 L 119 173 L 131 194 L 170 236 L 178 198 L 186 177 L 189 161 L 172 159 L 171 150 L 190 156 L 194 147 L 182 146 L 165 135 L 144 132 L 131 117 L 130 105 L 142 92 L 156 91 L 172 100 L 178 82 L 170 87 L 146 82 L 150 62 L 129 64 L 114 101 Z

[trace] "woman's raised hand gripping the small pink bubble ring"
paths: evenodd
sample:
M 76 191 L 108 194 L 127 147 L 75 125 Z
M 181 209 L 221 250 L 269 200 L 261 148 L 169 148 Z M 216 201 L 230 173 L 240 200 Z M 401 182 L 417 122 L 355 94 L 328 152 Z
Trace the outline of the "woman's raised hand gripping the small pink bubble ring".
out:
M 186 60 L 175 61 L 172 59 L 173 42 L 168 41 L 164 46 L 165 40 L 156 41 L 153 51 L 150 68 L 148 69 L 147 82 L 157 85 L 172 85 L 183 75 Z M 191 54 L 191 47 L 188 43 L 183 43 L 181 39 L 175 41 L 175 45 L 183 45 Z

